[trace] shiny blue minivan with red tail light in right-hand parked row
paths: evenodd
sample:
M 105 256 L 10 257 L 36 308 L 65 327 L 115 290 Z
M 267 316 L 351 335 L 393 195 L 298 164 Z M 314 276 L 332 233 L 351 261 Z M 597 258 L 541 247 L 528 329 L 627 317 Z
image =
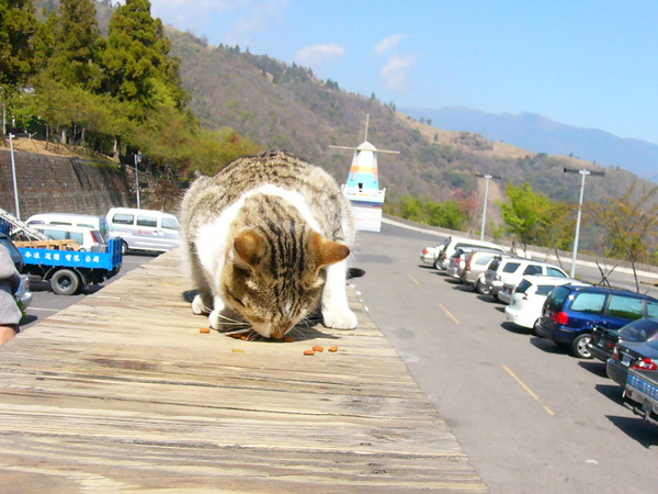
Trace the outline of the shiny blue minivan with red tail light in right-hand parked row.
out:
M 608 287 L 565 284 L 551 292 L 535 328 L 575 357 L 589 359 L 587 345 L 594 327 L 619 329 L 640 317 L 658 317 L 658 300 Z

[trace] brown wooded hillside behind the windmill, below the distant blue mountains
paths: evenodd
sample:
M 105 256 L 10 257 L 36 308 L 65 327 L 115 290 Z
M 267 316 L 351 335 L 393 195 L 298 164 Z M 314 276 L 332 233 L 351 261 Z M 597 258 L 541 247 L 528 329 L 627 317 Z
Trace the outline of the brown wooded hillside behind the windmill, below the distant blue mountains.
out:
M 349 93 L 340 89 L 340 81 L 318 80 L 304 67 L 239 47 L 211 46 L 172 29 L 168 35 L 171 55 L 180 58 L 183 83 L 192 94 L 191 108 L 205 126 L 230 126 L 263 148 L 286 148 L 322 165 L 339 181 L 347 177 L 351 156 L 329 145 L 358 145 L 370 114 L 368 141 L 400 151 L 379 157 L 379 181 L 390 199 L 407 193 L 435 200 L 468 197 L 481 188 L 475 173 L 486 172 L 503 177 L 494 188 L 527 181 L 552 199 L 577 202 L 579 183 L 563 168 L 602 169 L 468 132 L 439 130 L 401 114 L 374 94 Z M 588 199 L 619 194 L 635 178 L 619 167 L 605 171 L 605 179 L 588 182 Z

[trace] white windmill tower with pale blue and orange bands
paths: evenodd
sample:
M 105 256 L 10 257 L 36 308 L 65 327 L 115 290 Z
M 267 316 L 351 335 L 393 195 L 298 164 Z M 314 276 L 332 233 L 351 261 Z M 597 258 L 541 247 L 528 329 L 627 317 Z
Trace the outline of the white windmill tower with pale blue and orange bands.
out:
M 356 229 L 379 232 L 382 229 L 382 207 L 386 189 L 379 189 L 377 171 L 377 153 L 399 154 L 399 151 L 381 150 L 367 142 L 370 115 L 365 119 L 365 136 L 358 147 L 330 146 L 337 149 L 354 151 L 348 182 L 342 186 L 343 195 L 352 203 L 354 225 Z

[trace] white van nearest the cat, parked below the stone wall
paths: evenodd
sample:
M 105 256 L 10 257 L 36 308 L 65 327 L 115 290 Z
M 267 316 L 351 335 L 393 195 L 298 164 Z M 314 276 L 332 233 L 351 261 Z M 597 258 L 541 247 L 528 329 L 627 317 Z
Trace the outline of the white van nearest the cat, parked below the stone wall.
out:
M 112 207 L 107 211 L 110 237 L 121 237 L 124 254 L 128 250 L 166 252 L 181 243 L 179 221 L 161 211 Z

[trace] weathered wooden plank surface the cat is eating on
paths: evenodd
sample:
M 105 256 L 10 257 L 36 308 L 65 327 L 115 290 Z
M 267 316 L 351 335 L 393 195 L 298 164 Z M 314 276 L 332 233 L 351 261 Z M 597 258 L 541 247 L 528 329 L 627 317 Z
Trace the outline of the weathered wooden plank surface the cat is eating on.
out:
M 174 250 L 0 347 L 1 492 L 487 491 L 353 292 L 358 329 L 280 343 L 185 289 Z

